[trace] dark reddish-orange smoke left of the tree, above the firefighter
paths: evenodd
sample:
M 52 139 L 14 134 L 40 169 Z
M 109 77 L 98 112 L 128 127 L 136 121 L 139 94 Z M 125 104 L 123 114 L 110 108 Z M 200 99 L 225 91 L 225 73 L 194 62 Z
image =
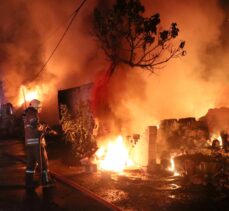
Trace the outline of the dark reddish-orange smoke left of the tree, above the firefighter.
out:
M 21 85 L 45 87 L 43 116 L 58 121 L 57 91 L 92 81 L 96 67 L 103 68 L 88 20 L 96 1 L 90 1 L 42 70 L 80 3 L 9 0 L 1 4 L 0 80 L 4 82 L 6 101 L 16 106 Z

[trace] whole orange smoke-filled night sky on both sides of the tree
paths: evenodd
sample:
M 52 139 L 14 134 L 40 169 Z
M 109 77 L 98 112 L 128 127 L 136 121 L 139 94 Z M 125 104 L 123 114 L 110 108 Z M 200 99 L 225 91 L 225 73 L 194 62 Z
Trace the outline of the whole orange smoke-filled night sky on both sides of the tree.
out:
M 21 84 L 47 86 L 43 113 L 50 122 L 58 118 L 58 90 L 94 82 L 109 66 L 91 36 L 92 14 L 95 7 L 109 7 L 114 1 L 89 0 L 46 69 L 31 83 L 80 2 L 7 0 L 0 5 L 0 80 L 7 100 L 17 101 Z M 135 131 L 163 118 L 199 118 L 209 108 L 229 107 L 229 2 L 142 3 L 146 16 L 160 13 L 162 27 L 178 24 L 177 40 L 186 41 L 187 55 L 171 60 L 156 74 L 120 68 L 107 90 L 112 116 L 120 127 Z

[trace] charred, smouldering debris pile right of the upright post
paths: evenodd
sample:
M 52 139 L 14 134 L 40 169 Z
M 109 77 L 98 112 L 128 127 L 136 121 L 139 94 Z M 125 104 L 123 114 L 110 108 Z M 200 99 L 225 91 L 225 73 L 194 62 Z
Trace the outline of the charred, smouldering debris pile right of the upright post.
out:
M 180 175 L 193 184 L 228 186 L 229 135 L 225 131 L 212 134 L 205 121 L 184 118 L 163 120 L 159 135 L 167 143 L 166 151 L 161 152 L 162 161 L 172 154 Z

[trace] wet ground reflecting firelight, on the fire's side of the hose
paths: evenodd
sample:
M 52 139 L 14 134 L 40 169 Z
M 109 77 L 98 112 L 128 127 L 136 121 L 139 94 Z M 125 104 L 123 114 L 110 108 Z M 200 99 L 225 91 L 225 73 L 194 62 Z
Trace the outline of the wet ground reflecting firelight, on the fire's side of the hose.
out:
M 10 153 L 24 156 L 23 141 L 18 140 L 9 149 Z M 93 191 L 121 210 L 229 210 L 229 190 L 224 186 L 194 185 L 186 177 L 161 172 L 148 174 L 143 169 L 123 174 L 90 172 L 85 166 L 66 164 L 68 152 L 59 140 L 48 142 L 47 151 L 52 171 Z

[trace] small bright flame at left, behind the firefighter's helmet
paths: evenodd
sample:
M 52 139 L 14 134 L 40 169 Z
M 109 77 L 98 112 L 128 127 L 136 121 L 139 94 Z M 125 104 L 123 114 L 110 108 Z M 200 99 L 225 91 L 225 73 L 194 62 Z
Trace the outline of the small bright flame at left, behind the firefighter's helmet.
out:
M 25 107 L 28 106 L 28 102 L 33 99 L 38 99 L 40 101 L 43 100 L 44 95 L 48 93 L 48 88 L 44 85 L 42 86 L 34 86 L 32 88 L 26 87 L 24 85 L 20 86 L 19 89 L 19 97 L 18 97 L 18 106 L 22 106 L 24 104 Z

